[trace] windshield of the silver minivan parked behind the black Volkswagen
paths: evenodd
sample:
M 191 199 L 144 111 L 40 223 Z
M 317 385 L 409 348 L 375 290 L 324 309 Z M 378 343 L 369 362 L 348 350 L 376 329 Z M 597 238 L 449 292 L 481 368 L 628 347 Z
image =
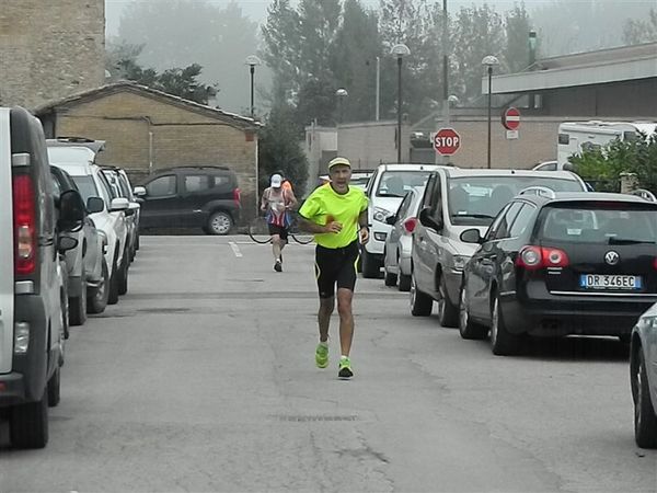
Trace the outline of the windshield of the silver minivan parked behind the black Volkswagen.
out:
M 576 180 L 537 176 L 463 176 L 449 181 L 448 205 L 457 226 L 489 226 L 511 198 L 529 186 L 545 186 L 555 192 L 583 192 Z

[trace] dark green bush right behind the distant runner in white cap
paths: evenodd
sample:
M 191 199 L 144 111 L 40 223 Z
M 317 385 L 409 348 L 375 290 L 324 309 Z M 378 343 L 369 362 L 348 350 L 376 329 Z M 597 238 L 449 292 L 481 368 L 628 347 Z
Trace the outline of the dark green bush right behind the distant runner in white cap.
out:
M 299 145 L 295 107 L 281 104 L 269 113 L 258 137 L 260 192 L 268 186 L 269 176 L 277 171 L 290 180 L 301 197 L 308 182 L 308 160 Z

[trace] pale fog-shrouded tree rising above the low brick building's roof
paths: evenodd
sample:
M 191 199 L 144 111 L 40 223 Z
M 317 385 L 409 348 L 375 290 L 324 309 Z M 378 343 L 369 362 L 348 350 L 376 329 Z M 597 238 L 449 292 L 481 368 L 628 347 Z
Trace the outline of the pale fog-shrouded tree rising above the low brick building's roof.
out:
M 199 81 L 221 88 L 217 103 L 232 111 L 249 104 L 249 69 L 244 60 L 257 50 L 257 24 L 231 1 L 219 8 L 206 0 L 136 1 L 120 18 L 118 34 L 142 46 L 138 61 L 164 71 L 204 67 Z M 258 70 L 258 80 L 264 80 Z

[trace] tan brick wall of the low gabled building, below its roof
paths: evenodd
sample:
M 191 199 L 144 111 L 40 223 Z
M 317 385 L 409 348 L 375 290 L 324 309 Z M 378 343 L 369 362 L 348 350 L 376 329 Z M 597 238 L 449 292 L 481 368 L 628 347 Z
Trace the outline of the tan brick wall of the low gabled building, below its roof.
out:
M 125 168 L 136 183 L 175 165 L 229 167 L 242 204 L 255 209 L 257 136 L 226 122 L 124 91 L 59 112 L 55 125 L 57 136 L 105 140 L 99 162 Z

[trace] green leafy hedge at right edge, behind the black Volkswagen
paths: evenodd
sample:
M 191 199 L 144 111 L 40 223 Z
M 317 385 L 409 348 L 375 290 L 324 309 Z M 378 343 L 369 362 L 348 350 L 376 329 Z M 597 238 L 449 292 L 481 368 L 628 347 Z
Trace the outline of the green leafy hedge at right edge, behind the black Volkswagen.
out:
M 585 180 L 615 183 L 621 173 L 636 173 L 642 188 L 657 192 L 657 133 L 612 140 L 602 149 L 572 157 L 570 162 Z

